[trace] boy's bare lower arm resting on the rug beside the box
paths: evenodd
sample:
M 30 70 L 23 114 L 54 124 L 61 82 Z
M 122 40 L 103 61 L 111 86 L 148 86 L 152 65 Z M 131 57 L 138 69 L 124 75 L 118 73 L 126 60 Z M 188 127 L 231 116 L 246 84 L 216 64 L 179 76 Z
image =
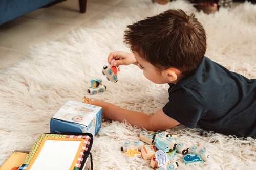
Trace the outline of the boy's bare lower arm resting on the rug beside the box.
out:
M 126 110 L 104 101 L 91 101 L 88 104 L 102 107 L 102 116 L 111 120 L 122 122 L 126 120 L 132 126 L 136 125 L 150 131 L 164 131 L 180 123 L 164 114 L 160 109 L 153 116 L 142 112 Z

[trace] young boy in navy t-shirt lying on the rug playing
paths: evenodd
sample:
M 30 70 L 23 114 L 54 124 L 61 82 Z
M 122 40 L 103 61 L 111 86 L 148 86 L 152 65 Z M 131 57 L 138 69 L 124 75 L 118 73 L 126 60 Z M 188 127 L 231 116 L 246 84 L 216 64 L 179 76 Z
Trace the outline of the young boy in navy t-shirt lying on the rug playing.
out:
M 154 83 L 169 84 L 169 102 L 154 115 L 104 101 L 105 118 L 158 131 L 183 124 L 237 137 L 256 136 L 256 79 L 247 79 L 205 57 L 206 35 L 194 14 L 167 10 L 127 26 L 133 54 L 112 52 L 114 65 L 136 64 Z

